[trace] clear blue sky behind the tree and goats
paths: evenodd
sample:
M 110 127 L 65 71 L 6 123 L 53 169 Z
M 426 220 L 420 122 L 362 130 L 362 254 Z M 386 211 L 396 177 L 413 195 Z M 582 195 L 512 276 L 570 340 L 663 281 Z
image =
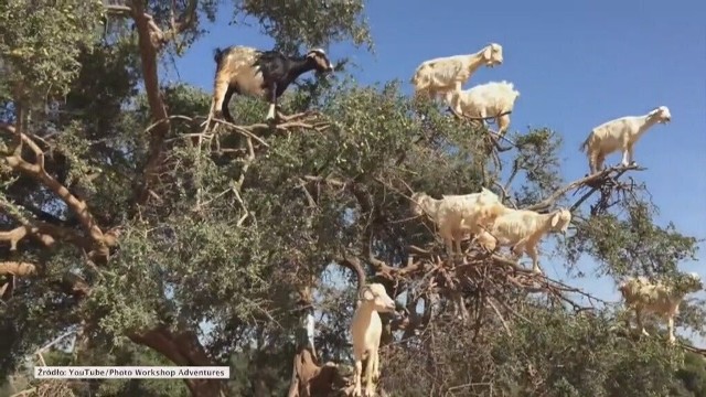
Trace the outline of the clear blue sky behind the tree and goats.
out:
M 227 3 L 215 25 L 204 25 L 210 34 L 178 60 L 178 75 L 171 73 L 170 78 L 211 92 L 215 46 L 271 47 L 272 41 L 256 28 L 228 25 Z M 474 53 L 489 42 L 502 44 L 504 63 L 492 69 L 482 67 L 464 88 L 489 81 L 514 83 L 521 96 L 511 130 L 546 126 L 561 133 L 561 172 L 567 181 L 588 172 L 578 147 L 592 127 L 667 106 L 672 122 L 653 127 L 638 143 L 635 160 L 649 170 L 633 176 L 650 187 L 661 207 L 662 225 L 672 221 L 687 235 L 706 237 L 706 2 L 367 3 L 376 54 L 333 45 L 328 49 L 333 61 L 351 56 L 360 67 L 353 72 L 361 84 L 399 78 L 410 93 L 409 78 L 422 61 Z M 619 161 L 619 153 L 608 159 L 609 164 Z M 683 269 L 706 277 L 703 258 L 699 253 L 699 262 Z M 548 258 L 541 262 L 547 276 L 563 276 L 560 266 Z M 590 272 L 592 264 L 585 260 L 580 266 Z M 600 297 L 618 299 L 610 280 L 580 283 Z

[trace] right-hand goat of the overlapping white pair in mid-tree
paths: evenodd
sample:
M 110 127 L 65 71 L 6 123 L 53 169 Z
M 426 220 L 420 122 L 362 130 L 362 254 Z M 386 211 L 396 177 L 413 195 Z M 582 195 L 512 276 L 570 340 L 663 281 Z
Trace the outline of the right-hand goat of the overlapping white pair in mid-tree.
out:
M 505 207 L 505 212 L 498 216 L 492 226 L 478 236 L 478 242 L 490 251 L 500 245 L 512 247 L 517 257 L 526 253 L 532 258 L 532 271 L 542 273 L 537 244 L 549 232 L 566 234 L 570 222 L 571 213 L 565 208 L 539 214 L 530 210 Z

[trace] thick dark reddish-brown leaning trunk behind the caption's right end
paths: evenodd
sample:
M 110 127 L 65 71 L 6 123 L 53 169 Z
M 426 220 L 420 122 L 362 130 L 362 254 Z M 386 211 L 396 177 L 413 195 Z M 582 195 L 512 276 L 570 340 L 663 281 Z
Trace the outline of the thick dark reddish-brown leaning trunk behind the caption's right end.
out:
M 178 334 L 164 326 L 129 335 L 135 343 L 153 348 L 178 366 L 214 366 L 196 336 L 189 331 Z M 194 397 L 225 396 L 222 379 L 184 379 Z

